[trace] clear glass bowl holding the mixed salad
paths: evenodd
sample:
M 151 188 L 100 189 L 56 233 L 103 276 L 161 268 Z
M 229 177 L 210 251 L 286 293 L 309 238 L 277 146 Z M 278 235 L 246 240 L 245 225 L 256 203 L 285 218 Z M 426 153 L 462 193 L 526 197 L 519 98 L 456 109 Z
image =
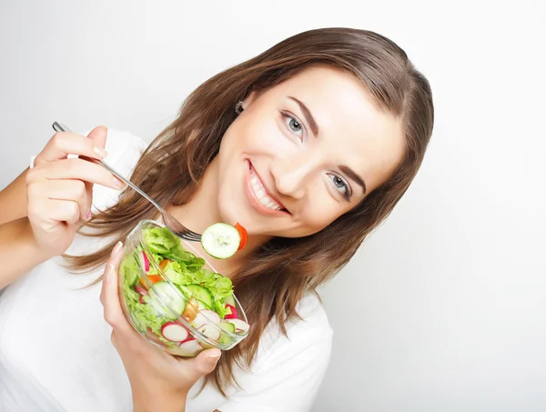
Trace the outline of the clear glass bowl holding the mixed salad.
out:
M 182 285 L 187 280 L 173 276 L 168 266 L 172 262 L 169 260 L 165 265 L 163 259 L 157 261 L 147 245 L 143 231 L 159 227 L 164 226 L 143 220 L 126 238 L 118 284 L 127 320 L 147 341 L 171 355 L 195 357 L 206 348 L 235 347 L 248 336 L 248 319 L 237 297 L 231 295 L 224 305 L 222 299 L 215 300 L 203 290 L 204 283 Z M 208 279 L 219 277 L 207 258 L 188 242 L 176 239 L 187 252 L 204 260 L 202 269 L 210 271 Z

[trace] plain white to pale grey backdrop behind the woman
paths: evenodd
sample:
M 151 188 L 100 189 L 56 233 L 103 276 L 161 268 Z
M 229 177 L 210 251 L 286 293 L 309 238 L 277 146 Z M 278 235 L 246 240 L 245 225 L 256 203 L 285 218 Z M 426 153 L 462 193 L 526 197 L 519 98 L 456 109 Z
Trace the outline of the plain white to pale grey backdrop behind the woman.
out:
M 56 120 L 149 141 L 210 75 L 288 35 L 387 35 L 430 79 L 435 130 L 410 191 L 322 290 L 335 347 L 313 410 L 545 411 L 540 3 L 2 0 L 0 188 Z

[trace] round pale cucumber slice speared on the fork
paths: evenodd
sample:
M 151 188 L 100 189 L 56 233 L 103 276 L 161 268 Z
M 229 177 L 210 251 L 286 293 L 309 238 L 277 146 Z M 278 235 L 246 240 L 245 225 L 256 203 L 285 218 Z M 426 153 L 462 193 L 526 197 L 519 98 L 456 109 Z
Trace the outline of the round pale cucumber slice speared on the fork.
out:
M 225 223 L 208 226 L 201 235 L 201 245 L 208 255 L 217 259 L 227 259 L 235 255 L 240 243 L 238 230 Z

